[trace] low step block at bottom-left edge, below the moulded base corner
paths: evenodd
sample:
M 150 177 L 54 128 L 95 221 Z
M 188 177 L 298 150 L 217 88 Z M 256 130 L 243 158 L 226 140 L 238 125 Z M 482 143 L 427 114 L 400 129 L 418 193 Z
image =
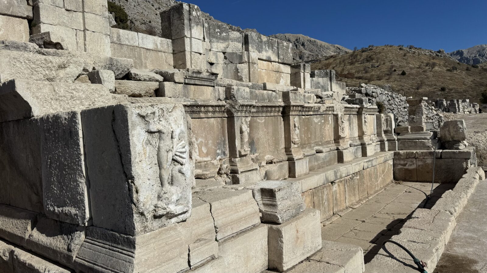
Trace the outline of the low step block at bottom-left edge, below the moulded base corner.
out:
M 22 273 L 70 273 L 70 270 L 62 268 L 47 259 L 28 253 L 20 248 L 13 251 L 15 272 Z

